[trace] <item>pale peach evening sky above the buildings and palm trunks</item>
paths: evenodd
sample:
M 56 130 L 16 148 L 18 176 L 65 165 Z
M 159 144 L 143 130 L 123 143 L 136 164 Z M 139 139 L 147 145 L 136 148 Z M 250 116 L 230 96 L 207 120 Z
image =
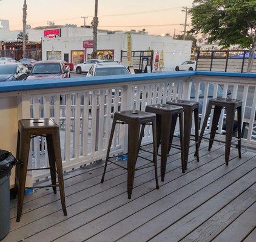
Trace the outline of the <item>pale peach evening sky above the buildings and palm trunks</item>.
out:
M 23 2 L 23 0 L 0 0 L 0 19 L 8 19 L 11 30 L 22 28 Z M 146 28 L 150 34 L 170 33 L 171 35 L 174 29 L 176 34 L 182 33 L 184 27 L 180 24 L 184 24 L 185 19 L 185 13 L 181 11 L 182 7 L 192 6 L 192 0 L 98 0 L 98 2 L 99 28 L 124 31 Z M 33 28 L 47 25 L 47 21 L 53 21 L 55 24 L 80 26 L 84 24 L 81 16 L 89 16 L 86 21 L 90 24 L 94 15 L 94 4 L 95 0 L 27 0 L 27 24 Z M 189 23 L 190 19 L 188 19 Z

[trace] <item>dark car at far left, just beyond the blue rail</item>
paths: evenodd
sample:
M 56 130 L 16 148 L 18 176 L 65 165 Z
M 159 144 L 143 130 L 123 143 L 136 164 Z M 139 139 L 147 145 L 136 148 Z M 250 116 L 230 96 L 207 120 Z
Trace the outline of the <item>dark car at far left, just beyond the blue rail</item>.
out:
M 24 65 L 16 62 L 10 64 L 0 64 L 0 82 L 12 80 L 25 80 L 29 71 Z

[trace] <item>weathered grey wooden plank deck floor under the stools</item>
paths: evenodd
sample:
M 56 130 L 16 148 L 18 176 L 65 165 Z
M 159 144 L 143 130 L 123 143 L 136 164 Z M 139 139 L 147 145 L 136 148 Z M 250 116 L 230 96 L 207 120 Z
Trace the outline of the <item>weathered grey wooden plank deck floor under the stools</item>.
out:
M 190 149 L 186 174 L 180 154 L 171 151 L 159 190 L 152 168 L 137 171 L 132 200 L 126 171 L 118 166 L 107 167 L 104 184 L 99 183 L 103 165 L 70 172 L 65 177 L 68 216 L 62 215 L 59 193 L 39 189 L 25 197 L 19 223 L 12 200 L 11 230 L 3 241 L 255 242 L 256 152 L 243 151 L 238 159 L 234 149 L 226 166 L 223 145 L 211 151 L 206 146 L 201 144 L 199 163 Z

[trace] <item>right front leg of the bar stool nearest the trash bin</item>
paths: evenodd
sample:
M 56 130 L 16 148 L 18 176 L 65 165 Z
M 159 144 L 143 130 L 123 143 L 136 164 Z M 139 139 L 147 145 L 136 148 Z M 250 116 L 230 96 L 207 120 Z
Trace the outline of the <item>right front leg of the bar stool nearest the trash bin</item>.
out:
M 53 153 L 55 154 L 55 163 L 58 172 L 58 181 L 59 181 L 59 194 L 61 195 L 61 205 L 64 216 L 67 216 L 66 202 L 65 202 L 65 191 L 64 191 L 64 178 L 62 171 L 62 159 L 61 159 L 61 145 L 59 139 L 59 129 L 56 129 L 52 135 L 53 141 Z

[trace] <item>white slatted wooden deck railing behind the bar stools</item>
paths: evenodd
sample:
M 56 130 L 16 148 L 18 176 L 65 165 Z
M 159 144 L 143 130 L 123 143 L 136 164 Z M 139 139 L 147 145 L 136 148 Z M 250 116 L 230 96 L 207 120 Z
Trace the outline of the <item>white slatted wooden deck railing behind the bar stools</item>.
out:
M 140 78 L 138 78 L 140 77 Z M 94 78 L 94 79 L 93 79 Z M 72 87 L 42 87 L 34 90 L 0 93 L 1 98 L 18 98 L 18 119 L 52 118 L 60 125 L 63 168 L 72 168 L 104 159 L 109 140 L 112 116 L 118 110 L 144 110 L 146 105 L 166 103 L 171 99 L 190 98 L 200 102 L 201 119 L 211 97 L 223 96 L 243 100 L 243 145 L 256 148 L 256 80 L 255 75 L 221 73 L 157 73 L 122 77 L 124 81 L 87 84 L 84 80 Z M 75 79 L 74 79 L 75 80 Z M 101 79 L 102 80 L 102 79 Z M 72 82 L 72 79 L 66 82 Z M 67 85 L 68 86 L 68 85 Z M 15 89 L 15 87 L 13 87 Z M 229 94 L 229 95 L 227 95 Z M 17 97 L 18 96 L 18 97 Z M 218 132 L 223 132 L 225 120 L 221 114 Z M 211 120 L 209 121 L 211 126 Z M 1 127 L 2 128 L 2 127 Z M 112 143 L 113 154 L 126 151 L 127 129 L 116 127 Z M 146 129 L 143 143 L 152 140 Z M 44 137 L 36 137 L 31 145 L 32 167 L 48 166 Z M 33 180 L 45 178 L 47 173 L 35 171 Z

